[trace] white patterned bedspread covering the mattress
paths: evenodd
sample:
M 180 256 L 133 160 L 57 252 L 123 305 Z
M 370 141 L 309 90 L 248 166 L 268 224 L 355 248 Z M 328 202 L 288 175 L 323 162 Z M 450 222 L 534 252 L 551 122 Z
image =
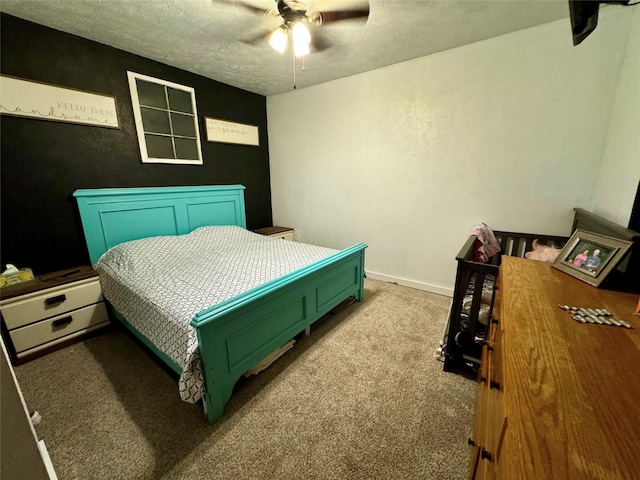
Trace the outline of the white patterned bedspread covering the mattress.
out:
M 237 226 L 201 227 L 121 243 L 95 268 L 105 298 L 181 367 L 180 397 L 196 403 L 204 382 L 195 314 L 336 252 Z

